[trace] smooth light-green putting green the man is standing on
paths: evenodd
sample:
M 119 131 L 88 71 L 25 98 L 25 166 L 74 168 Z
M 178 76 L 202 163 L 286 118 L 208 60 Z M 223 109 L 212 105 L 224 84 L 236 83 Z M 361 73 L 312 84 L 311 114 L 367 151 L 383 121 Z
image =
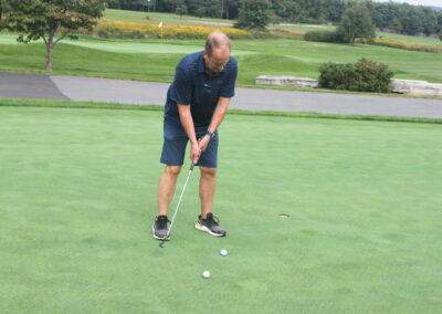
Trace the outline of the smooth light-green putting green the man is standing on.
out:
M 440 125 L 228 115 L 228 237 L 193 227 L 197 170 L 160 249 L 161 122 L 0 107 L 1 313 L 442 311 Z

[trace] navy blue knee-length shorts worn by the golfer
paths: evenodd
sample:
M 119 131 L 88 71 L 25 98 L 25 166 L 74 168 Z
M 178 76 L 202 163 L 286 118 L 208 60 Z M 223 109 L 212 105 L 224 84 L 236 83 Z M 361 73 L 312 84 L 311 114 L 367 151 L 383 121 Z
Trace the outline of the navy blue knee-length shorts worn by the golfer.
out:
M 196 127 L 197 138 L 207 134 L 208 127 Z M 186 146 L 189 138 L 181 125 L 166 123 L 164 125 L 165 142 L 162 144 L 161 164 L 168 166 L 182 166 L 186 157 Z M 206 150 L 201 154 L 196 166 L 217 168 L 218 166 L 218 130 L 210 140 Z M 187 157 L 189 158 L 189 157 Z

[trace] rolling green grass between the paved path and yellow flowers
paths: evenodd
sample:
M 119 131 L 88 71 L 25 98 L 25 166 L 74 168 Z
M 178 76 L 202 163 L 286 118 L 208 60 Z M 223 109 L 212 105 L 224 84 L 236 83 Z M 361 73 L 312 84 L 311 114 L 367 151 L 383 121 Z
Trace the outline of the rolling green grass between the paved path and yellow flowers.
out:
M 43 44 L 13 44 L 11 34 L 1 34 L 0 42 L 0 70 L 42 71 Z M 55 48 L 54 73 L 170 82 L 177 62 L 202 46 L 203 41 L 165 40 L 161 44 L 159 40 L 83 36 L 80 42 L 64 41 Z M 356 62 L 360 57 L 387 63 L 396 78 L 442 82 L 442 54 L 438 53 L 281 39 L 234 41 L 233 55 L 240 64 L 240 86 L 254 85 L 261 74 L 317 78 L 318 67 L 325 62 Z

